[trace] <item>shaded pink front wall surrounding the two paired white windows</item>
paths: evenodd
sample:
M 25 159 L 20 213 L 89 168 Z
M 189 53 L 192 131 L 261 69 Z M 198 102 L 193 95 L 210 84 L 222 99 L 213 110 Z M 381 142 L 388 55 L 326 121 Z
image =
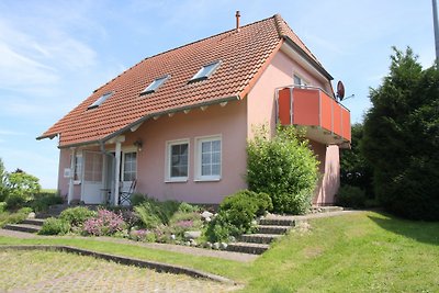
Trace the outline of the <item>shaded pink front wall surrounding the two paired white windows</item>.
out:
M 219 203 L 226 195 L 245 189 L 246 172 L 246 101 L 211 105 L 205 111 L 164 115 L 145 122 L 134 133 L 126 133 L 122 147 L 142 138 L 137 154 L 137 192 L 159 200 L 191 203 Z M 194 181 L 195 137 L 222 135 L 222 178 L 217 182 Z M 189 178 L 187 182 L 165 182 L 166 144 L 189 138 Z

